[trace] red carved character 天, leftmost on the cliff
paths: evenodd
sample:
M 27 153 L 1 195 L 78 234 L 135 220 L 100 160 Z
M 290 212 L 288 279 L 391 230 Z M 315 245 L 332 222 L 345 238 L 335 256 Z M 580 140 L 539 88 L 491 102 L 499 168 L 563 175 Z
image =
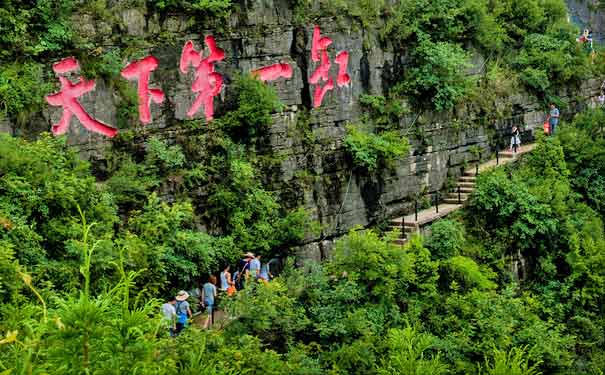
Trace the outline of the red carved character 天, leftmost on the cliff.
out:
M 73 57 L 68 57 L 53 65 L 53 71 L 57 74 L 65 74 L 80 68 L 80 64 Z M 98 120 L 92 118 L 77 98 L 94 90 L 95 81 L 86 81 L 80 77 L 76 83 L 71 82 L 67 77 L 59 76 L 61 82 L 61 91 L 56 94 L 51 94 L 46 97 L 48 104 L 57 107 L 63 107 L 63 115 L 58 124 L 52 126 L 54 135 L 64 134 L 69 128 L 69 122 L 73 115 L 84 125 L 89 131 L 103 134 L 107 137 L 113 137 L 117 134 L 118 129 L 112 128 Z

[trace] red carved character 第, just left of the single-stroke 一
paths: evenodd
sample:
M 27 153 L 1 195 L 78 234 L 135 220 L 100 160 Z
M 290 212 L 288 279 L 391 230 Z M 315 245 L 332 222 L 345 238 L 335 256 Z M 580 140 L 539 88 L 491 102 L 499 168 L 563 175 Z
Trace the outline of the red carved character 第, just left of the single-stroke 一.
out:
M 187 74 L 189 65 L 195 69 L 195 80 L 191 85 L 191 91 L 198 93 L 187 116 L 193 117 L 200 106 L 204 106 L 206 121 L 211 121 L 214 116 L 214 97 L 221 92 L 223 87 L 223 76 L 214 71 L 214 63 L 225 59 L 225 51 L 216 46 L 216 41 L 212 35 L 204 39 L 210 55 L 203 58 L 203 50 L 198 52 L 190 40 L 185 43 L 181 53 L 180 69 L 183 74 Z

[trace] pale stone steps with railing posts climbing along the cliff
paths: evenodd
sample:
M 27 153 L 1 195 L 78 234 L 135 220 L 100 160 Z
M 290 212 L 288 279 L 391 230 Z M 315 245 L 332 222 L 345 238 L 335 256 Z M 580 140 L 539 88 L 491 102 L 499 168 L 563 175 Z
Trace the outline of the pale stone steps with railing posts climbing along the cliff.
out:
M 390 230 L 398 233 L 398 236 L 393 240 L 393 243 L 404 245 L 412 234 L 420 232 L 422 226 L 430 224 L 433 221 L 462 208 L 475 190 L 477 172 L 483 172 L 499 165 L 510 163 L 518 156 L 530 152 L 533 148 L 534 145 L 529 144 L 523 146 L 517 153 L 511 151 L 499 152 L 496 159 L 489 160 L 476 168 L 465 171 L 463 175 L 458 178 L 454 191 L 448 193 L 438 206 L 418 211 L 417 215 L 412 213 L 407 216 L 392 219 L 390 222 Z

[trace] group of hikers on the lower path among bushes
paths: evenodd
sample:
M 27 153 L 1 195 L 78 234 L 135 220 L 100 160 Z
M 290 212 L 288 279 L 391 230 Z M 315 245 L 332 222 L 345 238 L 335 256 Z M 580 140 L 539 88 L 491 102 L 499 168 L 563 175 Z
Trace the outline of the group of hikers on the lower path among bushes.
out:
M 162 305 L 162 318 L 171 336 L 178 336 L 193 318 L 193 312 L 188 300 L 193 297 L 200 311 L 206 310 L 203 327 L 207 329 L 214 322 L 214 312 L 217 301 L 222 297 L 230 297 L 245 287 L 249 282 L 268 283 L 273 279 L 271 266 L 278 259 L 262 263 L 261 255 L 248 252 L 243 255 L 238 269 L 231 274 L 231 266 L 225 265 L 219 275 L 220 286 L 217 289 L 217 278 L 210 275 L 201 288 L 195 288 L 191 293 L 181 290 L 176 296 L 170 296 Z

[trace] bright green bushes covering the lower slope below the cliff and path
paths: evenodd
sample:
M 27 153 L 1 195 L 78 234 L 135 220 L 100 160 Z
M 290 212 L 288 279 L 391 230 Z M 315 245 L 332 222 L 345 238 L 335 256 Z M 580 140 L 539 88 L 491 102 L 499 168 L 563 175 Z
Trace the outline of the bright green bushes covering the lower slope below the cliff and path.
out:
M 203 234 L 188 227 L 186 201 L 155 194 L 129 201 L 142 206 L 124 222 L 121 193 L 96 183 L 61 140 L 2 137 L 0 370 L 600 374 L 602 117 L 585 112 L 519 163 L 481 175 L 468 209 L 426 238 L 400 247 L 353 230 L 330 261 L 290 264 L 223 300 L 221 329 L 177 339 L 165 338 L 150 295 L 233 261 L 235 227 Z M 175 146 L 152 144 L 154 165 L 187 164 Z M 233 162 L 225 188 L 258 189 Z

